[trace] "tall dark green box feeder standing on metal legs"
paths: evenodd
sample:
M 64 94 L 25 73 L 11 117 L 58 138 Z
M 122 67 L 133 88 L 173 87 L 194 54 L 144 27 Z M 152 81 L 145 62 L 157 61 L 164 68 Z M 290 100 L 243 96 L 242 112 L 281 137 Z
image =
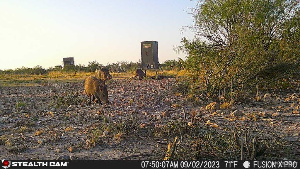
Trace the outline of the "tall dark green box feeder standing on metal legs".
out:
M 161 67 L 161 65 L 158 62 L 157 41 L 141 42 L 141 55 L 142 55 L 142 70 L 145 70 L 145 72 L 148 69 L 155 69 L 156 72 L 156 69 L 159 69 L 159 67 Z

